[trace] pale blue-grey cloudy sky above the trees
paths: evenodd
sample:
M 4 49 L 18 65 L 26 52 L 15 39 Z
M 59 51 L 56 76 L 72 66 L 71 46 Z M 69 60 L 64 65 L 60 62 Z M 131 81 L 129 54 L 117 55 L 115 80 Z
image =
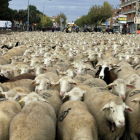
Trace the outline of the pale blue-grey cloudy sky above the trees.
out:
M 48 15 L 49 17 L 57 16 L 60 12 L 67 17 L 67 22 L 75 21 L 78 17 L 87 15 L 90 7 L 93 5 L 103 5 L 104 0 L 29 0 L 30 5 L 34 5 L 37 9 Z M 108 0 L 108 2 L 118 7 L 120 0 Z M 28 0 L 12 0 L 9 2 L 11 9 L 27 9 Z

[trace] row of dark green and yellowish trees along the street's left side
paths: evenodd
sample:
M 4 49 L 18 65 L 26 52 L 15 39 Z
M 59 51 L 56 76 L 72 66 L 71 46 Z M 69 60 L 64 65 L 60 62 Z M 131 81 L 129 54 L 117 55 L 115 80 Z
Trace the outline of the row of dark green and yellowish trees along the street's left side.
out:
M 11 0 L 0 0 L 0 20 L 8 20 L 12 22 L 12 25 L 14 26 L 14 20 L 18 21 L 19 24 L 22 22 L 23 27 L 26 25 L 27 21 L 27 14 L 28 14 L 28 8 L 22 9 L 22 10 L 13 10 L 9 8 L 9 1 Z M 52 20 L 46 16 L 43 15 L 42 12 L 37 10 L 37 8 L 33 5 L 29 5 L 29 23 L 30 25 L 33 25 L 33 23 L 37 23 L 37 27 L 41 28 L 43 23 L 44 27 L 53 26 Z M 64 13 L 58 14 L 56 18 L 56 22 L 60 23 L 60 17 L 64 19 L 64 24 L 66 24 L 66 16 Z M 43 20 L 44 18 L 44 20 Z

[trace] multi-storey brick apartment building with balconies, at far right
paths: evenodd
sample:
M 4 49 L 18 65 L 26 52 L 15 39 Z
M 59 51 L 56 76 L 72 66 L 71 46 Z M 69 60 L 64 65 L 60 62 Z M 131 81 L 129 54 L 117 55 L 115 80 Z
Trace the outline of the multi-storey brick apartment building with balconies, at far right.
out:
M 127 24 L 129 25 L 130 32 L 135 32 L 135 24 L 134 24 L 134 17 L 138 17 L 139 15 L 138 11 L 136 12 L 136 9 L 139 9 L 139 4 L 137 5 L 138 7 L 136 8 L 136 2 L 139 0 L 121 0 L 121 14 L 122 15 L 127 15 Z M 138 25 L 139 28 L 139 25 Z

